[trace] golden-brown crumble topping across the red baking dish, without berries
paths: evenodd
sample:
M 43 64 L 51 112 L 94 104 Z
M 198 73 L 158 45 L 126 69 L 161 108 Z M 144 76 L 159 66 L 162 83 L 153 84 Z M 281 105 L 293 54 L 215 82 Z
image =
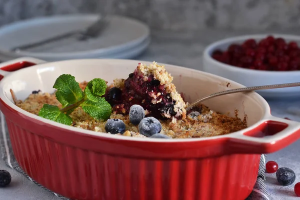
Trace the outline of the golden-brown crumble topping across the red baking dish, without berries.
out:
M 163 91 L 169 93 L 169 97 L 172 98 L 173 111 L 176 112 L 176 115 L 171 115 L 171 110 L 164 110 L 164 115 L 167 118 L 158 119 L 162 125 L 162 129 L 160 133 L 165 134 L 171 138 L 192 138 L 192 137 L 207 137 L 207 136 L 215 136 L 227 134 L 230 132 L 234 132 L 243 128 L 246 128 L 246 120 L 245 118 L 241 120 L 238 117 L 229 117 L 225 114 L 217 113 L 213 110 L 210 110 L 205 105 L 199 105 L 196 110 L 192 112 L 186 113 L 185 107 L 186 103 L 183 101 L 181 95 L 176 91 L 175 85 L 172 83 L 173 77 L 165 70 L 163 65 L 158 65 L 156 62 L 151 63 L 150 65 L 145 65 L 139 63 L 136 70 L 134 71 L 135 75 L 137 74 L 139 77 L 142 77 L 144 80 L 147 79 L 155 79 L 159 81 L 159 84 L 163 87 Z M 152 77 L 150 77 L 152 75 Z M 133 73 L 131 74 L 133 77 Z M 130 77 L 130 74 L 129 74 Z M 130 80 L 130 84 L 136 83 L 138 86 L 140 82 L 135 81 L 134 79 Z M 135 81 L 135 82 L 134 82 Z M 140 80 L 139 80 L 140 81 Z M 87 85 L 87 81 L 83 81 L 79 83 L 79 86 L 82 90 Z M 106 82 L 107 83 L 107 82 Z M 142 82 L 143 83 L 143 82 Z M 107 87 L 107 91 L 112 87 L 117 87 L 124 89 L 126 87 L 125 79 L 114 79 L 113 83 Z M 150 82 L 145 83 L 150 84 Z M 153 87 L 152 87 L 153 88 Z M 130 88 L 131 89 L 131 88 Z M 134 94 L 134 90 L 130 91 Z M 162 91 L 162 90 L 161 90 Z M 12 92 L 12 91 L 11 91 Z M 126 93 L 125 93 L 126 94 Z M 13 92 L 12 92 L 13 95 Z M 106 95 L 106 94 L 105 94 Z M 148 93 L 151 98 L 151 103 L 156 104 L 162 100 L 161 92 L 157 91 L 156 93 Z M 107 96 L 105 96 L 107 97 Z M 129 96 L 127 99 L 132 100 Z M 126 98 L 125 98 L 126 99 Z M 34 92 L 30 94 L 25 100 L 17 100 L 13 95 L 13 100 L 15 101 L 15 105 L 32 113 L 38 115 L 39 110 L 42 108 L 43 104 L 51 104 L 57 105 L 61 108 L 60 102 L 56 99 L 55 93 L 43 93 L 41 91 Z M 144 103 L 143 101 L 141 101 Z M 133 136 L 133 137 L 146 137 L 143 134 L 139 133 L 138 125 L 134 125 L 129 120 L 129 115 L 126 112 L 124 104 L 116 104 L 114 105 L 115 109 L 119 109 L 119 112 L 112 112 L 109 118 L 117 118 L 121 119 L 125 124 L 125 131 L 123 136 Z M 128 110 L 127 110 L 128 111 Z M 144 109 L 145 115 L 153 114 L 153 110 Z M 172 112 L 173 113 L 173 112 Z M 182 117 L 176 117 L 181 115 Z M 89 116 L 83 109 L 79 106 L 73 112 L 70 113 L 70 117 L 73 120 L 73 126 L 93 130 L 96 132 L 106 132 L 105 131 L 105 123 L 103 120 L 96 120 Z M 108 134 L 110 134 L 108 132 Z

